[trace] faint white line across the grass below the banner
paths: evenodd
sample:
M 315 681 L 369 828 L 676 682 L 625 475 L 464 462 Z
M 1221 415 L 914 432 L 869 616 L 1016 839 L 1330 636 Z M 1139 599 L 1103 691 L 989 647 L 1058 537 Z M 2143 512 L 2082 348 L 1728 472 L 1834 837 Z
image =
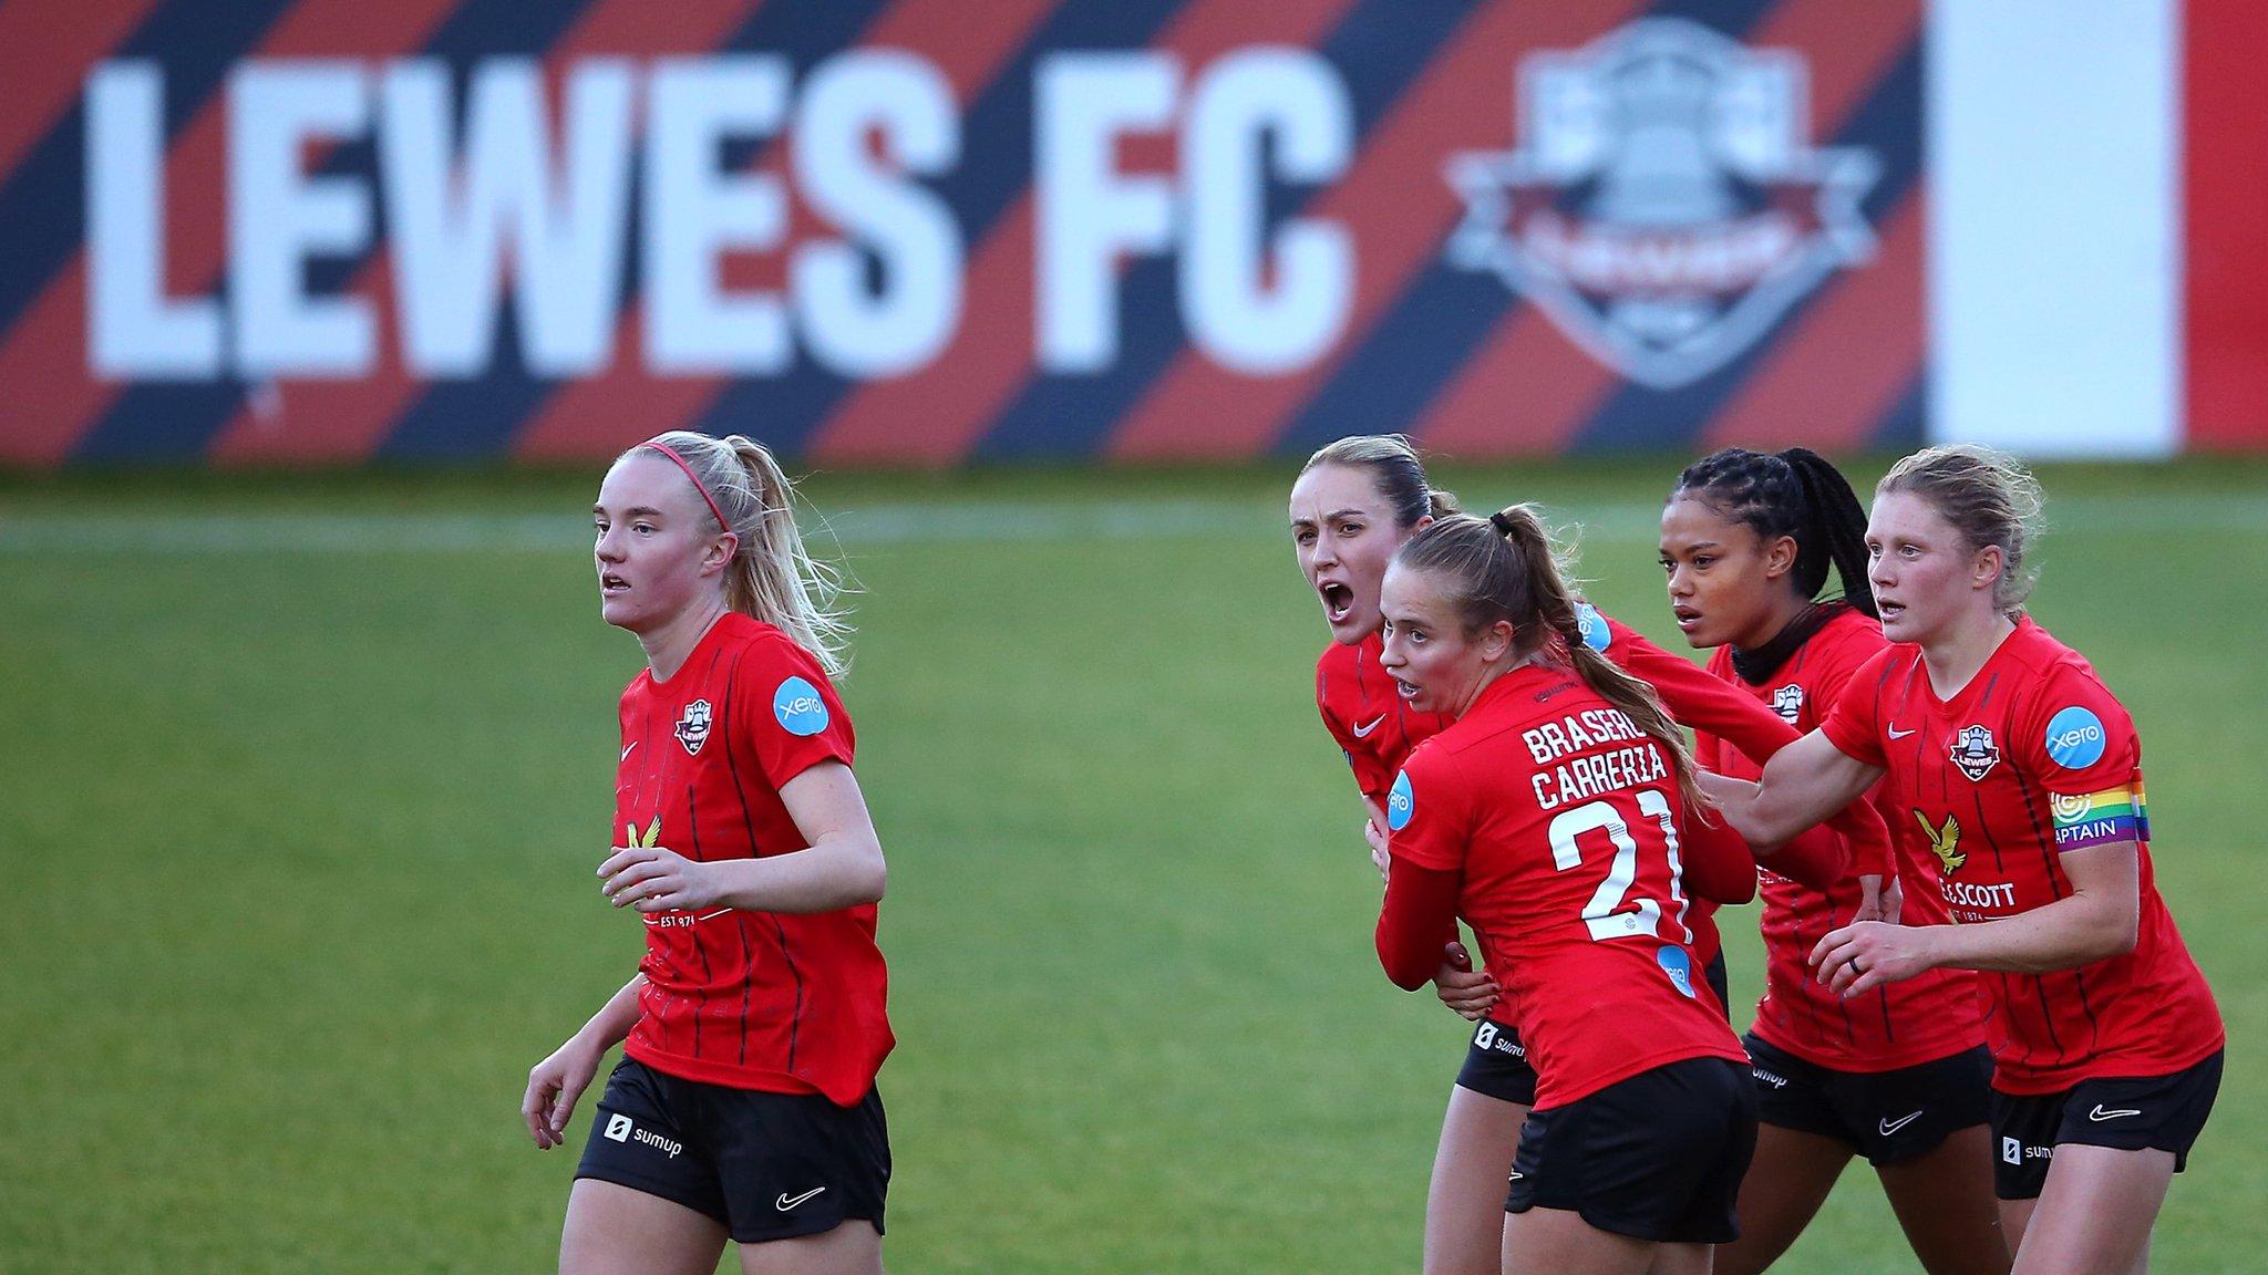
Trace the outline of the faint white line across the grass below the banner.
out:
M 1660 508 L 1635 501 L 1549 506 L 1576 542 L 1651 542 Z M 1275 501 L 939 501 L 850 506 L 816 520 L 826 549 L 934 542 L 1284 538 Z M 2050 544 L 2064 533 L 2268 533 L 2268 492 L 2071 497 L 2048 504 Z M 830 535 L 832 533 L 832 535 Z M 572 554 L 590 538 L 581 515 L 510 513 L 193 513 L 132 506 L 102 513 L 0 506 L 0 556 L 77 554 Z

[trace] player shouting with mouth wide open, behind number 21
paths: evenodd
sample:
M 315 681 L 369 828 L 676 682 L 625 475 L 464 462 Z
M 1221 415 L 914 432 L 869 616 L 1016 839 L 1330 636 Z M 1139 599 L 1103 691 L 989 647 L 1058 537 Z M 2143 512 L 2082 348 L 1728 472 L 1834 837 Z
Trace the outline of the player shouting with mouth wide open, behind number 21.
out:
M 1456 510 L 1454 497 L 1433 490 L 1417 451 L 1402 436 L 1340 438 L 1315 451 L 1290 492 L 1290 535 L 1300 574 L 1322 601 L 1331 644 L 1315 660 L 1315 703 L 1322 724 L 1347 755 L 1356 787 L 1370 810 L 1365 835 L 1383 869 L 1386 799 L 1408 751 L 1438 733 L 1447 719 L 1408 708 L 1379 667 L 1379 583 L 1395 549 Z M 1585 647 L 1651 683 L 1669 712 L 1710 731 L 1735 749 L 1769 758 L 1794 742 L 1796 731 L 1746 694 L 1672 656 L 1642 635 L 1576 603 Z M 1867 846 L 1860 871 L 1880 873 L 1887 858 L 1882 821 L 1864 805 L 1837 817 Z M 1799 848 L 1780 867 L 1805 878 L 1828 878 L 1842 864 L 1801 862 Z M 1873 876 L 1871 880 L 1880 880 Z M 1699 957 L 1719 1003 L 1724 960 L 1708 905 L 1696 901 L 1687 923 L 1699 932 Z M 1506 1014 L 1483 1016 L 1497 998 L 1486 973 L 1465 966 L 1461 946 L 1436 971 L 1440 998 L 1476 1019 L 1465 1064 L 1442 1116 L 1433 1184 L 1427 1196 L 1427 1275 L 1495 1275 L 1504 1230 L 1504 1180 L 1529 1105 L 1535 1071 Z

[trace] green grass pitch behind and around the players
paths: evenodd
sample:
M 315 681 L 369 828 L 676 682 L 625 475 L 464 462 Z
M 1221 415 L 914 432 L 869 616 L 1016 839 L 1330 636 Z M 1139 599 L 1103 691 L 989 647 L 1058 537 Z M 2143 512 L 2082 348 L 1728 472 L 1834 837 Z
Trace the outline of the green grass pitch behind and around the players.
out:
M 1674 463 L 1449 470 L 1674 640 Z M 1867 474 L 1871 479 L 1871 472 Z M 2268 467 L 2050 467 L 2034 613 L 2134 710 L 2229 1019 L 2168 1273 L 2268 1264 Z M 1386 985 L 1290 465 L 819 476 L 891 862 L 889 1261 L 1413 1270 L 1461 1023 Z M 528 1064 L 637 962 L 569 476 L 0 485 L 0 1270 L 549 1270 Z M 1735 1016 L 1758 987 L 1728 917 Z M 728 1259 L 730 1266 L 730 1259 Z M 1785 1270 L 1912 1270 L 1864 1166 Z

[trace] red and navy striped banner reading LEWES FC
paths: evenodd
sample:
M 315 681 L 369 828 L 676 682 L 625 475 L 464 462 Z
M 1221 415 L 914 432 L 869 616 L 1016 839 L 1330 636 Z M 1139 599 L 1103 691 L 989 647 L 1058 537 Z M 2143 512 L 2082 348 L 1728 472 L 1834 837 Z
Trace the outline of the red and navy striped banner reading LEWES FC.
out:
M 1919 0 L 0 0 L 0 463 L 1923 438 Z

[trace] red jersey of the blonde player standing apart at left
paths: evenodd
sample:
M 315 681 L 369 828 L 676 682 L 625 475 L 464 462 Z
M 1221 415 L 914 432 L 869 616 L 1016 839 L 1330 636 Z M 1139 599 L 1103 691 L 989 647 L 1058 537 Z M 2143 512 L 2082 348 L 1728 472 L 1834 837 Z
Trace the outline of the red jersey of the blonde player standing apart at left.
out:
M 807 848 L 780 787 L 850 762 L 850 715 L 819 660 L 739 613 L 719 619 L 669 681 L 621 692 L 615 842 L 689 860 Z M 649 912 L 646 976 L 624 1053 L 655 1071 L 848 1107 L 894 1037 L 871 903 L 782 914 Z

